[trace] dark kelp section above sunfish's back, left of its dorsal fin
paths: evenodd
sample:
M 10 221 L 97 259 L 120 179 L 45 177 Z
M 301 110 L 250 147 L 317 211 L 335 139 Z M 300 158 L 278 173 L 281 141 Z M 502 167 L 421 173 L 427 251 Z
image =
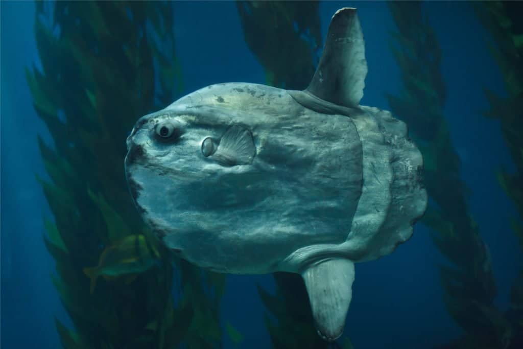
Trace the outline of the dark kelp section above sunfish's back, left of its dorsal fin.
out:
M 245 42 L 270 86 L 303 89 L 319 61 L 317 1 L 237 1 Z

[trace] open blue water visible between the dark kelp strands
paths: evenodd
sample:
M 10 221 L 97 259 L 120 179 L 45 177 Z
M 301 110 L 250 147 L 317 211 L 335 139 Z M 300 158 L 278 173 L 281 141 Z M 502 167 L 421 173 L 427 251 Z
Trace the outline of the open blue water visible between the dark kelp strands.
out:
M 395 30 L 382 2 L 323 2 L 325 34 L 336 9 L 358 7 L 366 39 L 369 74 L 361 104 L 389 109 L 385 93 L 401 91 L 400 72 L 389 50 Z M 483 88 L 503 93 L 501 74 L 486 48 L 488 35 L 468 3 L 425 4 L 444 53 L 446 116 L 471 190 L 470 211 L 492 254 L 498 296 L 507 296 L 523 259 L 510 230 L 515 209 L 499 188 L 495 171 L 513 167 L 498 122 L 481 116 L 488 108 Z M 264 72 L 247 48 L 233 2 L 175 5 L 176 42 L 184 92 L 218 82 L 264 83 Z M 50 279 L 52 258 L 42 240 L 42 217 L 50 217 L 35 174 L 46 177 L 37 134 L 52 143 L 32 108 L 24 69 L 39 65 L 33 35 L 35 5 L 1 2 L 1 346 L 58 348 L 54 318 L 69 323 Z M 358 264 L 346 333 L 356 348 L 427 348 L 461 333 L 442 302 L 438 265 L 445 259 L 418 224 L 413 238 L 393 254 Z M 270 275 L 229 276 L 222 317 L 245 335 L 242 347 L 268 348 L 260 284 L 274 290 Z M 226 342 L 226 346 L 230 343 Z

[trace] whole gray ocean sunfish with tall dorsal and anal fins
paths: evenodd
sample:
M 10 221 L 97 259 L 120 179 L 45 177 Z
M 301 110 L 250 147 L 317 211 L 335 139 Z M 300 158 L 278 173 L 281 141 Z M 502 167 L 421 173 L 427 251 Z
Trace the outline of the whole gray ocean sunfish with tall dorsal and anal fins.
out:
M 211 85 L 142 117 L 127 140 L 130 193 L 158 238 L 217 272 L 300 273 L 329 341 L 354 263 L 410 238 L 427 204 L 405 124 L 359 105 L 366 73 L 356 9 L 343 8 L 305 91 Z

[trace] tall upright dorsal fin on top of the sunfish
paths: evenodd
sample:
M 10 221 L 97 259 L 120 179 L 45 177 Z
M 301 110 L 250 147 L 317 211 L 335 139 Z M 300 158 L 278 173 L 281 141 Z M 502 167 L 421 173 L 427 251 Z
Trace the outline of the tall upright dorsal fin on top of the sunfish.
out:
M 306 91 L 327 102 L 357 107 L 366 75 L 365 42 L 356 8 L 339 9 L 331 19 L 320 63 Z

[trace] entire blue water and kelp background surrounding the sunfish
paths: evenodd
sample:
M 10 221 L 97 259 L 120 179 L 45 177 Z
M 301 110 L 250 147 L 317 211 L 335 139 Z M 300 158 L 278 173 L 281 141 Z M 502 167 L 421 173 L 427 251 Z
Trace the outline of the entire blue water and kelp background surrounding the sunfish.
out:
M 327 344 L 298 275 L 171 262 L 135 215 L 123 156 L 140 116 L 198 88 L 305 88 L 332 15 L 347 6 L 366 41 L 360 104 L 407 123 L 430 201 L 408 242 L 357 264 L 345 333 Z M 523 347 L 521 9 L 0 2 L 0 345 Z M 145 257 L 134 255 L 140 239 L 152 246 Z M 138 247 L 121 258 L 154 263 L 100 277 L 91 292 L 84 268 L 126 241 Z

